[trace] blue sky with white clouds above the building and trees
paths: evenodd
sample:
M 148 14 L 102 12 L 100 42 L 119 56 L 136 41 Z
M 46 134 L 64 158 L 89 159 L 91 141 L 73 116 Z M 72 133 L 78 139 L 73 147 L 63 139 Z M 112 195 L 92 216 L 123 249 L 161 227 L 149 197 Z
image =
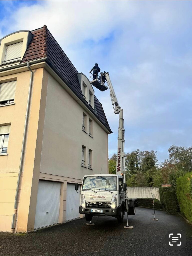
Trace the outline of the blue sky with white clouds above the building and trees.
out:
M 0 38 L 47 25 L 79 72 L 108 71 L 124 109 L 125 152 L 191 146 L 191 1 L 0 1 Z M 109 91 L 95 94 L 113 131 Z

